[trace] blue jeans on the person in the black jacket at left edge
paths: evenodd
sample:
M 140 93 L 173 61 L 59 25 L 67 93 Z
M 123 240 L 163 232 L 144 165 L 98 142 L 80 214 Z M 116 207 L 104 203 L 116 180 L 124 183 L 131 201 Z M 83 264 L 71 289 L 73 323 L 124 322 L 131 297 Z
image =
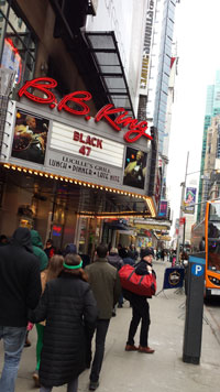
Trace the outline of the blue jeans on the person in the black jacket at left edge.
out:
M 0 326 L 0 340 L 3 339 L 4 346 L 4 366 L 0 379 L 0 392 L 14 392 L 25 336 L 26 327 Z

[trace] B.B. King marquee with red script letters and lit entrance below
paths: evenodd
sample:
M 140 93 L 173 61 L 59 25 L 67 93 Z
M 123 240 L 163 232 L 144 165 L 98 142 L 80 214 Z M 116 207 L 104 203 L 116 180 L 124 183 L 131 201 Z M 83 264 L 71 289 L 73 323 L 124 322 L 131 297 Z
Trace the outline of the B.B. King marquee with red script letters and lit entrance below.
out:
M 90 116 L 88 91 L 57 101 L 56 80 L 24 84 L 10 100 L 1 148 L 1 227 L 34 227 L 57 247 L 90 252 L 112 242 L 123 219 L 155 217 L 147 122 L 106 105 Z M 123 222 L 122 222 L 123 224 Z

